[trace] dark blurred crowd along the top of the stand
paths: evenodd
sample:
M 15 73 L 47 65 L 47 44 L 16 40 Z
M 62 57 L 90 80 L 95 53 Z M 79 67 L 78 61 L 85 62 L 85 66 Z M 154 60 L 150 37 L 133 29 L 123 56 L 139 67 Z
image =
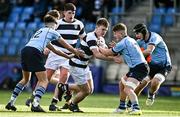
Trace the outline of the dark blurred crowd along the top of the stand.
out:
M 121 0 L 119 5 L 121 5 Z M 133 3 L 133 0 L 126 0 L 128 3 Z M 6 21 L 11 14 L 13 7 L 32 7 L 33 12 L 28 21 L 34 21 L 34 18 L 40 18 L 50 9 L 63 11 L 65 3 L 71 2 L 77 7 L 76 18 L 89 22 L 96 22 L 97 15 L 106 7 L 108 12 L 115 7 L 116 0 L 0 0 L 0 18 L 1 21 Z M 130 5 L 127 5 L 130 6 Z

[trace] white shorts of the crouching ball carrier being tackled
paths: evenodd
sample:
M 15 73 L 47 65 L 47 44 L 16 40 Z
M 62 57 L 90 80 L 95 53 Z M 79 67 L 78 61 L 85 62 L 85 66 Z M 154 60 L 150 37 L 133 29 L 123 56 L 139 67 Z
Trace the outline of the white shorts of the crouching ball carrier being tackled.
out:
M 84 69 L 84 68 L 70 66 L 69 72 L 70 75 L 73 77 L 74 82 L 77 85 L 86 84 L 88 80 L 92 79 L 92 73 L 89 67 Z

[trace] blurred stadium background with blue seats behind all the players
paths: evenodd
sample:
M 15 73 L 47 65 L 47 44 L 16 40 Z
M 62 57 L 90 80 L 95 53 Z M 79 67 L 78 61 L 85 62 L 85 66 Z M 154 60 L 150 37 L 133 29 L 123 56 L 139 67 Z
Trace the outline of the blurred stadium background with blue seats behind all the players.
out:
M 0 89 L 11 90 L 21 79 L 20 50 L 43 26 L 45 13 L 51 9 L 63 11 L 67 2 L 76 5 L 76 18 L 84 23 L 86 33 L 94 30 L 97 18 L 108 18 L 107 43 L 113 39 L 111 29 L 118 22 L 127 25 L 132 37 L 137 23 L 145 23 L 150 31 L 159 33 L 169 48 L 173 69 L 158 93 L 180 96 L 180 0 L 0 0 Z M 118 94 L 118 82 L 127 73 L 127 65 L 92 60 L 90 66 L 95 92 Z M 34 88 L 36 78 L 32 77 L 27 91 Z M 50 84 L 47 90 L 53 88 Z

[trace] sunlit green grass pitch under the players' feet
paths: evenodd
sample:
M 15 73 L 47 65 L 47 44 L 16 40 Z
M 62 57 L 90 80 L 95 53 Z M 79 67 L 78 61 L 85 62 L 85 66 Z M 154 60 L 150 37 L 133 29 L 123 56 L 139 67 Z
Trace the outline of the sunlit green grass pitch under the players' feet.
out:
M 42 100 L 41 105 L 47 113 L 33 113 L 29 107 L 25 106 L 25 100 L 31 95 L 30 93 L 23 92 L 16 101 L 17 112 L 11 112 L 4 109 L 6 103 L 10 98 L 10 91 L 0 91 L 0 117 L 129 117 L 128 114 L 114 114 L 113 110 L 118 106 L 118 95 L 110 94 L 93 94 L 87 97 L 79 104 L 80 108 L 85 113 L 72 113 L 69 110 L 59 112 L 49 112 L 48 106 L 51 102 L 52 93 L 46 93 Z M 153 106 L 148 107 L 145 105 L 146 97 L 139 97 L 139 102 L 143 112 L 142 117 L 180 117 L 180 97 L 158 97 Z M 62 106 L 64 102 L 58 105 Z

